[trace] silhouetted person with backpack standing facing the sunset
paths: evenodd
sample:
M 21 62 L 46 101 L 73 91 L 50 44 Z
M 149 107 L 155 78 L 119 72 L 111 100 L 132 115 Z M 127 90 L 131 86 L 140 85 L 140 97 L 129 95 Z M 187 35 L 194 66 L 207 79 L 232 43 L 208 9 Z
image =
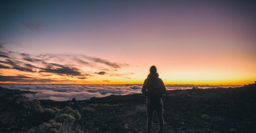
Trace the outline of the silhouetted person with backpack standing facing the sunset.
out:
M 160 132 L 163 132 L 163 102 L 162 94 L 166 93 L 165 85 L 161 78 L 158 77 L 156 67 L 150 68 L 150 74 L 145 79 L 141 92 L 146 95 L 147 107 L 147 133 L 151 133 L 154 111 L 156 111 Z

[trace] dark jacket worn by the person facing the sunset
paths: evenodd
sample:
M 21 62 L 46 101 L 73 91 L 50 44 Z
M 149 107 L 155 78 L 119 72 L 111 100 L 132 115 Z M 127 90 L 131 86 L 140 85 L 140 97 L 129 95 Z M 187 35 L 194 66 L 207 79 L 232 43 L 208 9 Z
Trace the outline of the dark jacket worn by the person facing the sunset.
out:
M 165 85 L 163 84 L 162 79 L 159 78 L 158 76 L 159 75 L 157 73 L 148 74 L 147 78 L 145 79 L 141 92 L 147 97 L 150 97 L 149 92 L 154 88 L 157 88 L 157 91 L 158 91 L 158 94 L 160 94 L 160 97 L 162 96 L 162 94 L 166 93 Z M 156 83 L 154 84 L 155 86 L 153 86 L 153 83 Z

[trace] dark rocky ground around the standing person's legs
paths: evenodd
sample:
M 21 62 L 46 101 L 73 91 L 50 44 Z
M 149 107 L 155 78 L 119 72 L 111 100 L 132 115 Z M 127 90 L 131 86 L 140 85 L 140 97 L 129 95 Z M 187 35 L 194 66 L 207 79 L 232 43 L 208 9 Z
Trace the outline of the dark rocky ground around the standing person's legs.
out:
M 6 95 L 6 91 L 10 91 L 9 95 L 14 93 L 10 89 L 0 88 L 0 90 L 1 97 L 3 94 Z M 23 92 L 15 93 L 19 95 Z M 255 84 L 239 88 L 170 90 L 162 97 L 165 131 L 168 133 L 256 132 L 255 95 Z M 3 103 L 5 98 L 0 100 L 0 132 L 33 132 L 37 130 L 39 124 L 52 119 L 42 118 L 40 113 L 32 116 L 19 115 L 21 112 L 12 110 L 6 102 Z M 42 108 L 62 109 L 69 106 L 79 110 L 81 119 L 76 120 L 75 124 L 83 132 L 142 133 L 146 130 L 146 101 L 142 94 L 110 95 L 81 101 L 73 99 L 62 102 L 52 100 L 39 100 L 39 102 Z M 26 110 L 28 109 L 24 112 Z M 31 112 L 36 111 L 31 110 Z M 6 122 L 8 119 L 13 119 L 11 122 L 14 124 L 10 122 L 8 124 Z M 15 127 L 12 127 L 14 125 Z M 159 131 L 156 115 L 154 115 L 152 131 Z

